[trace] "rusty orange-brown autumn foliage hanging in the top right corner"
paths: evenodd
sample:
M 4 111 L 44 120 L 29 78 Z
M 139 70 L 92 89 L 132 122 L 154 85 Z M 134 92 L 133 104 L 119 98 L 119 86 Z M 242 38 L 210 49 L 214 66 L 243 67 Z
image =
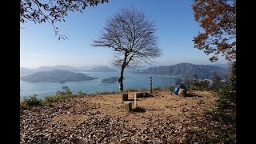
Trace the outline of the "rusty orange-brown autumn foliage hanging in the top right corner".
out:
M 203 32 L 194 37 L 194 47 L 213 54 L 211 62 L 222 54 L 226 60 L 236 59 L 236 1 L 194 0 L 194 19 Z

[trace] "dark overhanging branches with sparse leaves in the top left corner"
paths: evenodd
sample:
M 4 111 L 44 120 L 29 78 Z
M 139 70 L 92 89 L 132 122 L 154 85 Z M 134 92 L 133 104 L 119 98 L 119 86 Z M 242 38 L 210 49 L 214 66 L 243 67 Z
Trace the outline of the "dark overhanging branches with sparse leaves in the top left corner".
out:
M 66 36 L 58 33 L 58 27 L 54 22 L 65 22 L 67 13 L 86 9 L 86 6 L 97 6 L 99 2 L 108 0 L 21 0 L 20 22 L 42 23 L 49 22 L 54 27 L 55 36 L 65 39 Z

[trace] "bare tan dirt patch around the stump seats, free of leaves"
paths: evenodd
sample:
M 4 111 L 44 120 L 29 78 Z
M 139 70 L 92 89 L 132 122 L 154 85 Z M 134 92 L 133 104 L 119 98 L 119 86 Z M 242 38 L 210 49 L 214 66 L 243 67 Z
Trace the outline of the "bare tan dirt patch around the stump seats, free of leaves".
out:
M 132 102 L 134 109 L 134 93 L 129 92 L 128 98 Z M 97 94 L 90 97 L 74 98 L 78 103 L 71 111 L 77 114 L 56 115 L 50 122 L 64 122 L 66 125 L 76 125 L 83 122 L 87 115 L 79 114 L 86 111 L 91 114 L 105 114 L 111 117 L 118 117 L 126 120 L 128 126 L 143 126 L 146 119 L 156 120 L 159 118 L 179 119 L 180 114 L 190 114 L 192 107 L 202 110 L 202 106 L 209 105 L 216 100 L 206 91 L 190 91 L 188 97 L 182 98 L 168 91 L 157 91 L 152 94 L 153 97 L 137 98 L 138 112 L 127 113 L 122 109 L 121 94 Z M 203 103 L 203 105 L 202 105 Z M 69 111 L 69 110 L 67 110 Z

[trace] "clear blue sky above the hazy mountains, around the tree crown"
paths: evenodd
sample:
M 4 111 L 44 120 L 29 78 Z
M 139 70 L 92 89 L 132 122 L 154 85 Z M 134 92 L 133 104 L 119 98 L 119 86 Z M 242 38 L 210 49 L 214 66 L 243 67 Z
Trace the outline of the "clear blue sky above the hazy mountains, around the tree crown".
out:
M 54 38 L 54 29 L 48 23 L 21 24 L 24 29 L 20 29 L 20 66 L 110 65 L 114 52 L 90 44 L 102 32 L 106 19 L 126 7 L 141 10 L 156 24 L 162 57 L 154 59 L 153 66 L 181 62 L 210 64 L 210 56 L 194 48 L 192 40 L 201 29 L 194 22 L 191 4 L 191 0 L 110 0 L 94 8 L 87 7 L 82 14 L 70 13 L 66 22 L 58 23 L 60 34 L 66 34 L 69 40 Z M 226 63 L 224 58 L 219 59 L 216 63 Z

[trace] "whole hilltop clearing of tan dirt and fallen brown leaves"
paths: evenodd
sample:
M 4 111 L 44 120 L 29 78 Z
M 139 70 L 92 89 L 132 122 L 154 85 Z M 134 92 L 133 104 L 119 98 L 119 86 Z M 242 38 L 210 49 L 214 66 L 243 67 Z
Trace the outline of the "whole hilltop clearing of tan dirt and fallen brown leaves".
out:
M 131 102 L 133 96 L 129 92 Z M 21 110 L 21 143 L 234 143 L 235 123 L 206 112 L 216 100 L 207 91 L 189 91 L 185 98 L 155 91 L 138 98 L 138 112 L 127 113 L 121 94 L 74 97 Z

